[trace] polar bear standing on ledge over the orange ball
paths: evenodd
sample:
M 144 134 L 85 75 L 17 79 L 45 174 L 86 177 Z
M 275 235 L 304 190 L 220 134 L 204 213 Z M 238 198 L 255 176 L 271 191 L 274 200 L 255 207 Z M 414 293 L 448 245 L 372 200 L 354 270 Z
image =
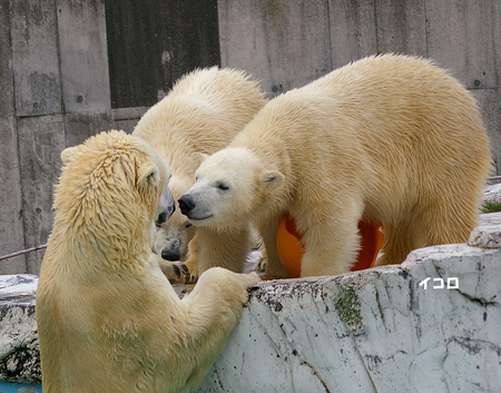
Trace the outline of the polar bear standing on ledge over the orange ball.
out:
M 490 166 L 475 101 L 460 82 L 428 60 L 376 56 L 271 100 L 200 165 L 179 205 L 197 226 L 252 219 L 266 278 L 287 277 L 276 234 L 288 212 L 303 235 L 301 275 L 337 275 L 354 263 L 360 220 L 383 224 L 376 265 L 465 242 Z

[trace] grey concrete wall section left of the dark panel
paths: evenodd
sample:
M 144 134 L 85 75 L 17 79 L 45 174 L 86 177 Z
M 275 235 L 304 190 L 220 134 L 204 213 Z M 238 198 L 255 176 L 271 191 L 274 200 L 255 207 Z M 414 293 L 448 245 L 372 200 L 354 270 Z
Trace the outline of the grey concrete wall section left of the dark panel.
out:
M 0 255 L 47 243 L 60 153 L 114 125 L 104 1 L 0 0 Z M 0 273 L 38 274 L 42 256 Z

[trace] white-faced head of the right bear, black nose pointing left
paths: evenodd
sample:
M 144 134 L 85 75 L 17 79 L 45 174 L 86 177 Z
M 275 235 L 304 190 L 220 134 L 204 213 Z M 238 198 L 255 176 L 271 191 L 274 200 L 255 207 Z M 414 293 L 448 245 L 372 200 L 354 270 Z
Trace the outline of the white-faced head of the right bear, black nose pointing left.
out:
M 206 157 L 195 185 L 179 198 L 179 208 L 197 226 L 238 226 L 264 214 L 284 175 L 268 170 L 253 151 L 226 148 Z

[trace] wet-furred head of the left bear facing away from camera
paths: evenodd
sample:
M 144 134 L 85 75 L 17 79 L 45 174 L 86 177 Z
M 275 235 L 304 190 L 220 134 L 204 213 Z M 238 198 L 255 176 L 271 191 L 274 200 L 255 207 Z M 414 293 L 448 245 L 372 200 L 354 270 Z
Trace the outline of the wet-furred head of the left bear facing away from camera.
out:
M 112 130 L 65 149 L 61 159 L 55 227 L 102 250 L 153 245 L 154 223 L 163 224 L 174 212 L 170 169 L 154 149 Z

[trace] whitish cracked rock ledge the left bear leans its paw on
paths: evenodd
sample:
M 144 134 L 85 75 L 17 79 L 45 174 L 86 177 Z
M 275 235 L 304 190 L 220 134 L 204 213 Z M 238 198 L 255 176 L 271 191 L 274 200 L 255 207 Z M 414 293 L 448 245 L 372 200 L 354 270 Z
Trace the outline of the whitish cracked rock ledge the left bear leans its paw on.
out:
M 498 392 L 500 238 L 490 214 L 401 266 L 261 283 L 198 392 Z M 0 381 L 40 381 L 36 284 L 0 276 Z

